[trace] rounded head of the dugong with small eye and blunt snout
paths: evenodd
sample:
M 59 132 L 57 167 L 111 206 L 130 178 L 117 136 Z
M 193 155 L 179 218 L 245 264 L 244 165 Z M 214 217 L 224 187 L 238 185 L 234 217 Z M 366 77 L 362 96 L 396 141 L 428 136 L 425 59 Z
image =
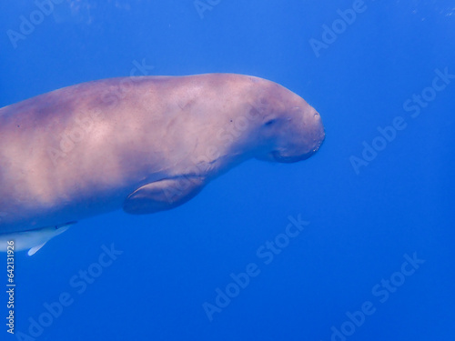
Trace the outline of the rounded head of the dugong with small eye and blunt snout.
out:
M 250 116 L 258 119 L 259 160 L 291 163 L 307 159 L 324 141 L 319 113 L 300 96 L 265 79 L 252 77 Z

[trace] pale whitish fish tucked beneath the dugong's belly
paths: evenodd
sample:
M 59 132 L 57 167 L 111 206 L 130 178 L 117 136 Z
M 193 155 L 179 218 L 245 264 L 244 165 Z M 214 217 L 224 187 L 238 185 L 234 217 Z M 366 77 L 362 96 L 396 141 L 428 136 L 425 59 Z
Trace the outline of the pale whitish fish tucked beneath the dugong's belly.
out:
M 15 251 L 28 250 L 27 255 L 33 256 L 35 253 L 55 236 L 63 234 L 69 226 L 75 223 L 68 223 L 64 226 L 49 226 L 37 230 L 16 232 L 12 234 L 0 235 L 0 251 L 6 252 L 8 242 L 14 241 Z

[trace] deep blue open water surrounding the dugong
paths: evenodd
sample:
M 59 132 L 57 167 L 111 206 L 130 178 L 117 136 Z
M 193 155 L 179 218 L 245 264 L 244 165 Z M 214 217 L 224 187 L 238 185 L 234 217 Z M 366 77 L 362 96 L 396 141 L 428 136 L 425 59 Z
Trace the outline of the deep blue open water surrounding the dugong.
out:
M 343 26 L 338 10 L 353 6 L 361 12 Z M 455 339 L 455 78 L 426 89 L 437 70 L 455 75 L 453 2 L 202 0 L 198 12 L 193 0 L 60 0 L 53 7 L 14 44 L 8 30 L 20 33 L 21 15 L 30 19 L 38 7 L 1 5 L 0 107 L 127 76 L 145 63 L 148 75 L 275 81 L 319 111 L 326 140 L 304 162 L 239 165 L 177 209 L 96 216 L 35 256 L 17 254 L 16 334 L 1 324 L 1 340 Z M 332 25 L 339 34 L 324 43 Z M 324 47 L 314 48 L 316 40 Z M 431 100 L 412 117 L 403 105 L 422 92 Z M 378 128 L 397 117 L 406 127 L 380 145 Z M 356 172 L 352 156 L 361 159 L 373 141 L 382 150 Z M 266 264 L 258 249 L 285 231 L 289 216 L 309 224 Z M 71 279 L 112 244 L 123 253 L 79 294 Z M 424 262 L 403 270 L 407 257 Z M 204 303 L 215 305 L 230 274 L 251 263 L 258 276 L 207 315 Z M 385 289 L 383 280 L 395 286 Z M 62 293 L 72 303 L 45 319 L 45 304 Z M 6 317 L 5 292 L 0 297 Z M 354 324 L 349 315 L 365 305 L 370 314 L 357 314 Z M 40 316 L 46 326 L 34 336 L 29 328 Z

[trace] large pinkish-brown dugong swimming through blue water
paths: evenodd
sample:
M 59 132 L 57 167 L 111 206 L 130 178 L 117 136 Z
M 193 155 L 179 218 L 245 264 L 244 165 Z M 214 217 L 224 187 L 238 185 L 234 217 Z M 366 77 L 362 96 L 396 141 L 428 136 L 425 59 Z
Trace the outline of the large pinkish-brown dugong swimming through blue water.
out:
M 249 75 L 113 78 L 38 95 L 0 109 L 0 234 L 167 210 L 249 158 L 306 159 L 324 136 L 303 98 Z

